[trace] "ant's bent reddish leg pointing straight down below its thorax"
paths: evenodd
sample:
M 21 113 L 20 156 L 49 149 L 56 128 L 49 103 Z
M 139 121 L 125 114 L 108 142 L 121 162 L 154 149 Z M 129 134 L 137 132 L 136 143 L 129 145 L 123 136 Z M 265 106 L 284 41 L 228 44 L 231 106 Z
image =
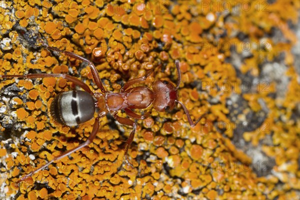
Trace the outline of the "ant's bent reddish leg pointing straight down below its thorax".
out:
M 124 125 L 129 125 L 129 126 L 133 127 L 133 129 L 130 132 L 129 137 L 126 140 L 126 143 L 125 143 L 125 152 L 124 152 L 124 160 L 125 160 L 124 162 L 126 164 L 129 164 L 133 168 L 133 165 L 128 161 L 128 149 L 129 149 L 129 147 L 130 147 L 130 145 L 131 145 L 131 143 L 133 141 L 133 138 L 134 138 L 134 133 L 135 133 L 135 130 L 136 130 L 136 123 L 134 121 L 128 119 L 128 118 L 120 117 L 117 114 L 114 114 L 113 117 L 119 123 L 124 124 Z

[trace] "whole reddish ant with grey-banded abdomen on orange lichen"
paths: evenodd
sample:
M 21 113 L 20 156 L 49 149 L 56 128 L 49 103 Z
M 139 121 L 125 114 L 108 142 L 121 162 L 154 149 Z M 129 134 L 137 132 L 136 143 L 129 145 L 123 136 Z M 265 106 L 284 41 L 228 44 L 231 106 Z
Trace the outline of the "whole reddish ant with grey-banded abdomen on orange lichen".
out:
M 61 52 L 69 57 L 85 61 L 88 63 L 88 66 L 91 69 L 93 81 L 96 86 L 101 90 L 101 92 L 93 92 L 90 90 L 87 84 L 83 81 L 77 79 L 68 74 L 64 73 L 29 73 L 26 75 L 0 75 L 2 78 L 44 78 L 44 77 L 62 77 L 77 86 L 80 86 L 82 90 L 72 90 L 65 91 L 57 94 L 51 104 L 50 104 L 50 115 L 53 117 L 54 121 L 66 126 L 75 126 L 80 123 L 83 123 L 89 119 L 91 119 L 94 115 L 96 108 L 98 109 L 97 116 L 95 117 L 92 131 L 86 141 L 79 144 L 78 146 L 70 149 L 56 157 L 52 160 L 48 161 L 46 164 L 40 166 L 34 171 L 24 175 L 18 180 L 18 182 L 23 181 L 27 177 L 36 173 L 37 171 L 47 167 L 55 160 L 59 160 L 65 156 L 70 155 L 71 153 L 81 149 L 84 146 L 87 146 L 92 140 L 95 138 L 96 133 L 99 129 L 99 119 L 104 117 L 107 113 L 110 113 L 115 120 L 117 120 L 120 124 L 129 125 L 132 128 L 129 137 L 125 141 L 124 145 L 124 162 L 130 162 L 127 159 L 128 149 L 131 145 L 134 137 L 134 133 L 136 130 L 136 119 L 145 119 L 148 116 L 148 112 L 140 115 L 135 113 L 132 109 L 144 109 L 147 108 L 150 104 L 153 104 L 153 108 L 157 111 L 163 112 L 168 111 L 174 108 L 175 103 L 179 103 L 186 116 L 188 123 L 191 127 L 195 126 L 201 117 L 199 117 L 195 122 L 192 121 L 190 114 L 187 108 L 184 106 L 182 102 L 178 100 L 177 90 L 179 88 L 179 84 L 181 81 L 181 74 L 179 68 L 179 60 L 175 60 L 175 66 L 177 68 L 178 80 L 177 85 L 174 85 L 166 80 L 156 80 L 152 84 L 152 89 L 146 86 L 136 86 L 132 87 L 133 84 L 143 82 L 147 76 L 149 76 L 152 72 L 146 73 L 146 75 L 133 78 L 128 80 L 123 87 L 121 87 L 119 92 L 111 92 L 106 91 L 102 85 L 100 77 L 98 75 L 97 69 L 95 65 L 88 59 L 77 55 L 73 52 L 60 50 L 56 47 L 48 46 L 46 43 L 42 42 L 42 46 L 47 48 L 48 50 Z M 129 118 L 120 117 L 117 115 L 118 110 L 124 110 L 125 113 L 133 118 L 131 120 Z M 131 165 L 132 166 L 132 165 Z

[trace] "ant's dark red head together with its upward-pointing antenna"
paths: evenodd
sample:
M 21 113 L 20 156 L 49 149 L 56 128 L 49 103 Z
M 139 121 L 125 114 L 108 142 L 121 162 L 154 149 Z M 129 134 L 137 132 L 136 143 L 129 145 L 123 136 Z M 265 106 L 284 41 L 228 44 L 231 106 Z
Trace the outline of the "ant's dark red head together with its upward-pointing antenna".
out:
M 178 73 L 177 86 L 166 80 L 157 80 L 152 84 L 152 89 L 155 93 L 155 100 L 153 102 L 153 107 L 157 111 L 168 111 L 175 107 L 175 103 L 178 99 L 177 89 L 181 81 L 181 74 L 179 68 L 179 60 L 175 60 L 175 65 Z

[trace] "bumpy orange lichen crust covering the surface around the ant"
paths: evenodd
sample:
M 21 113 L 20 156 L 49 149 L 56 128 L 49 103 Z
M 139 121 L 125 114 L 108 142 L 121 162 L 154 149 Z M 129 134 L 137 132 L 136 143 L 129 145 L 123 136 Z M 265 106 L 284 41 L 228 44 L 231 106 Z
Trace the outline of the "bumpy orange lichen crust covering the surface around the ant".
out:
M 6 163 L 1 173 L 7 174 L 7 179 L 1 179 L 4 191 L 0 193 L 6 198 L 297 198 L 299 120 L 295 116 L 300 86 L 291 51 L 298 38 L 291 28 L 298 22 L 298 1 L 71 0 L 52 4 L 15 0 L 0 4 L 0 31 L 6 37 L 0 39 L 1 74 L 69 73 L 99 92 L 86 63 L 81 65 L 79 60 L 42 46 L 27 49 L 24 40 L 31 46 L 40 45 L 33 42 L 35 31 L 50 46 L 93 61 L 105 88 L 113 92 L 119 91 L 123 81 L 150 69 L 153 73 L 140 85 L 151 88 L 157 79 L 175 84 L 174 59 L 179 59 L 179 100 L 193 120 L 202 117 L 195 127 L 189 127 L 184 110 L 177 105 L 170 112 L 152 110 L 146 119 L 138 120 L 128 157 L 134 169 L 128 171 L 119 170 L 120 163 L 115 161 L 123 160 L 121 140 L 127 132 L 119 133 L 104 117 L 89 146 L 72 153 L 72 159 L 52 163 L 18 187 L 15 182 L 23 174 L 19 167 L 29 173 L 31 164 L 41 165 L 77 146 L 88 137 L 93 120 L 69 128 L 49 118 L 53 97 L 74 89 L 63 78 L 1 77 L 3 99 L 12 101 L 0 101 L 0 131 L 10 131 L 3 124 L 12 121 L 9 125 L 13 125 L 13 120 L 18 131 L 26 130 L 25 138 L 17 136 L 18 145 L 10 144 L 9 150 L 5 149 L 8 145 L 0 144 L 0 156 Z M 225 5 L 228 9 L 222 10 Z M 25 34 L 17 31 L 18 24 Z M 279 30 L 282 39 L 274 39 L 274 30 Z M 250 48 L 245 51 L 243 44 L 247 43 Z M 283 56 L 282 63 L 277 62 L 278 55 Z M 276 67 L 266 70 L 266 63 Z M 272 79 L 270 71 L 280 75 Z M 244 81 L 252 84 L 253 79 L 259 82 L 246 90 Z M 20 89 L 9 92 L 11 85 Z M 259 123 L 244 130 L 236 120 Z M 9 135 L 15 136 L 13 130 Z M 231 137 L 238 137 L 238 142 L 244 139 L 247 145 L 236 145 L 236 138 L 231 141 Z M 46 153 L 40 151 L 44 147 Z M 34 160 L 27 156 L 28 149 Z M 11 150 L 17 152 L 16 157 L 6 154 Z M 248 156 L 243 151 L 255 154 Z M 249 163 L 259 158 L 256 152 L 264 153 L 267 161 L 274 159 L 274 164 L 267 162 L 270 170 L 248 168 L 263 163 L 261 159 Z M 51 189 L 36 190 L 35 181 Z

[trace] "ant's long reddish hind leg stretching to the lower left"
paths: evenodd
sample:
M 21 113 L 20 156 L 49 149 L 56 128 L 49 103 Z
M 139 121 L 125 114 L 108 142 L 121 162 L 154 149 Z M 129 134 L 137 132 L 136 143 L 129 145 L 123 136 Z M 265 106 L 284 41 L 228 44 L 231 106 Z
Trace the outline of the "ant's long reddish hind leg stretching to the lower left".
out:
M 35 169 L 34 171 L 32 171 L 32 172 L 26 174 L 26 175 L 23 176 L 23 177 L 21 177 L 21 179 L 19 179 L 19 180 L 17 181 L 17 183 L 19 183 L 19 182 L 25 180 L 26 178 L 28 178 L 28 177 L 31 176 L 32 174 L 36 173 L 37 171 L 39 171 L 39 170 L 41 170 L 41 169 L 47 167 L 47 166 L 48 166 L 49 164 L 51 164 L 53 161 L 59 160 L 59 159 L 65 157 L 65 156 L 68 156 L 68 155 L 70 155 L 71 153 L 73 153 L 73 152 L 75 152 L 75 151 L 81 149 L 82 147 L 87 146 L 88 144 L 90 144 L 90 143 L 92 142 L 92 140 L 95 138 L 95 136 L 96 136 L 96 134 L 97 134 L 97 132 L 98 132 L 98 129 L 99 129 L 99 118 L 96 117 L 96 118 L 95 118 L 95 122 L 94 122 L 93 127 L 92 127 L 92 131 L 91 131 L 90 135 L 88 136 L 88 138 L 86 139 L 86 141 L 84 141 L 83 143 L 79 144 L 79 145 L 76 146 L 75 148 L 70 149 L 70 150 L 68 150 L 68 151 L 66 151 L 66 152 L 64 152 L 64 153 L 62 153 L 62 154 L 60 154 L 60 155 L 54 157 L 53 159 L 51 159 L 51 160 L 50 160 L 49 162 L 47 162 L 46 164 L 42 165 L 41 167 Z

